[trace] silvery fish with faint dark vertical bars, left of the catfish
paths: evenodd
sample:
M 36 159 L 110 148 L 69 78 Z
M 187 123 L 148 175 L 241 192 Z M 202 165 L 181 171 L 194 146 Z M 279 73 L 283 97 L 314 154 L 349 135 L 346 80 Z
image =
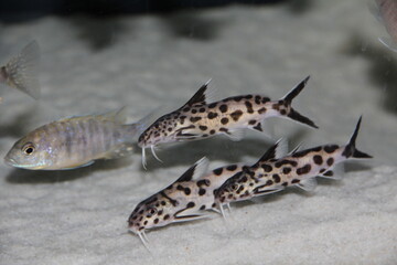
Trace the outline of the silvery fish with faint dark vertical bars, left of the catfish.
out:
M 56 170 L 127 156 L 147 117 L 130 125 L 125 125 L 125 108 L 120 108 L 46 124 L 18 140 L 4 161 L 17 168 Z

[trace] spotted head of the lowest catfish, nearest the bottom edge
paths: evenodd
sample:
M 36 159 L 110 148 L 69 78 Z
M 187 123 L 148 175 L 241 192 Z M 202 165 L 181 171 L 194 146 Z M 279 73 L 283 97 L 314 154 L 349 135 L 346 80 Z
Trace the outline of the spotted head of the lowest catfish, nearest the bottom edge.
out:
M 140 233 L 144 230 L 164 226 L 173 221 L 173 204 L 161 194 L 140 202 L 128 219 L 129 230 Z

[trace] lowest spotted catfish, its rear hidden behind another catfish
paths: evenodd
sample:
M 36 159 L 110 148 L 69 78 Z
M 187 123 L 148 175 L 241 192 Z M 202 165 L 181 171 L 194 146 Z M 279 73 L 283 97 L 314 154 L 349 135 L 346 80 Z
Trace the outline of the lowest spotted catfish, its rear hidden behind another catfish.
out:
M 205 218 L 203 210 L 217 211 L 214 189 L 240 171 L 242 166 L 229 165 L 210 173 L 207 167 L 208 160 L 201 159 L 175 182 L 140 202 L 128 219 L 129 230 L 146 244 L 146 230 Z

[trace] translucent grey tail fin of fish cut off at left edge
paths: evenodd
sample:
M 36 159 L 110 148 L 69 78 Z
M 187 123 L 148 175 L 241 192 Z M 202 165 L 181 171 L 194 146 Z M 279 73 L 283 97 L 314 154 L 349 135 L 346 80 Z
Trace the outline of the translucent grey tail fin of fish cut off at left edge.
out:
M 37 99 L 40 97 L 39 64 L 40 47 L 36 41 L 32 41 L 6 64 L 7 84 Z

